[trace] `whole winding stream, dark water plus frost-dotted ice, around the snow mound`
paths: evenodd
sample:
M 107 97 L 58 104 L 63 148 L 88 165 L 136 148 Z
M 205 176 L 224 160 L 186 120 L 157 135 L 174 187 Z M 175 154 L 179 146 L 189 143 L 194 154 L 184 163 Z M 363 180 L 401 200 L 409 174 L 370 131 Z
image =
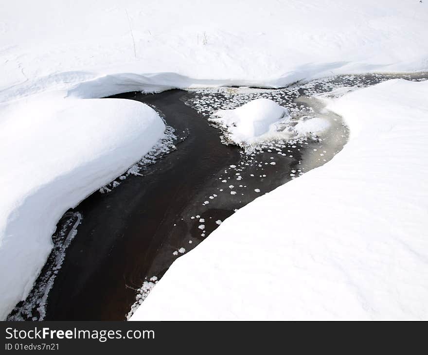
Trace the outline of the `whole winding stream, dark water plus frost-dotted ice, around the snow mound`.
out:
M 427 74 L 347 75 L 285 89 L 175 89 L 114 96 L 158 110 L 175 129 L 177 149 L 146 164 L 142 176 L 116 179 L 120 186 L 108 193 L 96 192 L 66 213 L 31 294 L 9 319 L 124 320 L 144 281 L 159 279 L 220 221 L 342 149 L 347 127 L 339 116 L 321 113 L 322 105 L 310 97 L 332 90 L 338 96 L 349 91 L 340 88 L 369 86 L 393 77 L 423 80 Z M 247 153 L 223 144 L 222 132 L 207 117 L 217 109 L 259 97 L 286 106 L 296 120 L 323 115 L 331 126 L 322 139 L 270 142 Z

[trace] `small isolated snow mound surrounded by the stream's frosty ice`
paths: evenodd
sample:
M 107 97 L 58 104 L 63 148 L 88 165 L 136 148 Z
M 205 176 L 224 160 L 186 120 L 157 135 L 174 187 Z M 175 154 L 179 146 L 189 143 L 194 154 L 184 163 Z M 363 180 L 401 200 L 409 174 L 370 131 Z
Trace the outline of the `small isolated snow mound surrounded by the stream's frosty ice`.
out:
M 276 124 L 289 117 L 285 107 L 262 98 L 238 108 L 217 110 L 210 120 L 225 127 L 233 142 L 251 144 L 267 139 L 276 132 Z

